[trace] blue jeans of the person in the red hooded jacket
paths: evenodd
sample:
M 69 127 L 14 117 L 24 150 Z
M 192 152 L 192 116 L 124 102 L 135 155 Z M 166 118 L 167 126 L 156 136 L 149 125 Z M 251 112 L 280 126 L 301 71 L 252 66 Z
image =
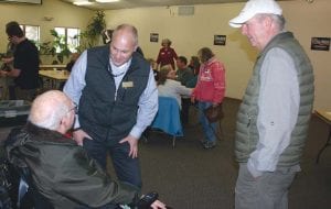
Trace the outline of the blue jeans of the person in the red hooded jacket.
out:
M 199 121 L 202 125 L 203 133 L 207 141 L 215 142 L 216 141 L 216 124 L 217 122 L 210 123 L 207 118 L 204 114 L 204 110 L 211 107 L 212 102 L 199 101 Z

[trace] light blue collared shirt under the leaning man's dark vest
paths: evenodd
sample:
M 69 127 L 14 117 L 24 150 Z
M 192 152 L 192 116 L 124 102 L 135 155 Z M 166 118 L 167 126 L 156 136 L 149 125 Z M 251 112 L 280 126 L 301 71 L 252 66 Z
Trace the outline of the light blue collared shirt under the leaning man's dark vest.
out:
M 131 59 L 119 67 L 115 67 L 111 64 L 111 62 L 110 65 L 114 72 L 121 73 L 120 70 L 124 72 L 128 70 L 130 63 Z M 87 66 L 87 51 L 82 53 L 79 58 L 76 61 L 72 69 L 71 76 L 63 88 L 63 91 L 76 103 L 79 103 L 82 90 L 86 86 L 85 82 L 86 66 Z M 124 76 L 125 73 L 121 74 L 120 76 L 114 77 L 116 84 L 116 91 Z M 148 125 L 150 125 L 150 123 L 154 119 L 154 116 L 158 112 L 158 89 L 157 89 L 152 69 L 150 69 L 147 87 L 139 98 L 138 107 L 139 109 L 138 109 L 137 122 L 130 131 L 130 135 L 137 139 L 139 139 L 142 132 L 145 131 L 145 129 Z M 76 121 L 75 121 L 75 128 L 77 127 L 79 127 L 78 116 L 76 116 Z

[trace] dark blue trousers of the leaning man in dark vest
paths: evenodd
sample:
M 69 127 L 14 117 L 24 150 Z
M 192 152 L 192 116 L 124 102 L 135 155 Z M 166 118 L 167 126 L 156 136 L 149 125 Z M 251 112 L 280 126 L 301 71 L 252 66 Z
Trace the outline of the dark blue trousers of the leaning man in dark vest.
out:
M 120 182 L 135 185 L 139 189 L 142 186 L 139 158 L 129 156 L 129 143 L 113 143 L 107 144 L 97 139 L 84 140 L 84 148 L 90 157 L 96 160 L 98 164 L 106 169 L 107 152 L 113 161 L 114 169 Z

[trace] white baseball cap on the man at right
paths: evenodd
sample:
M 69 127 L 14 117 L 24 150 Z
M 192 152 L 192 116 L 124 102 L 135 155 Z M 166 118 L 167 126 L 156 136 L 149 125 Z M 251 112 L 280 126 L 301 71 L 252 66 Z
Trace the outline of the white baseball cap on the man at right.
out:
M 243 23 L 250 20 L 255 14 L 267 13 L 281 15 L 281 8 L 275 0 L 249 0 L 246 2 L 239 15 L 228 21 L 229 26 L 241 28 Z

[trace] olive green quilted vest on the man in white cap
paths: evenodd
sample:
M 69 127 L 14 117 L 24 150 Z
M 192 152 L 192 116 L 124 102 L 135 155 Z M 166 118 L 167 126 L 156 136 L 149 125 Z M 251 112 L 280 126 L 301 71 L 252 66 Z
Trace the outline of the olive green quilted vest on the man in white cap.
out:
M 285 32 L 276 35 L 257 57 L 253 76 L 239 107 L 235 136 L 235 155 L 239 163 L 246 163 L 250 153 L 256 150 L 258 142 L 256 119 L 258 116 L 260 67 L 266 54 L 275 47 L 286 51 L 292 57 L 300 90 L 298 120 L 291 133 L 290 144 L 281 153 L 278 166 L 296 165 L 300 162 L 302 155 L 313 102 L 313 74 L 311 63 L 301 45 L 292 33 Z

